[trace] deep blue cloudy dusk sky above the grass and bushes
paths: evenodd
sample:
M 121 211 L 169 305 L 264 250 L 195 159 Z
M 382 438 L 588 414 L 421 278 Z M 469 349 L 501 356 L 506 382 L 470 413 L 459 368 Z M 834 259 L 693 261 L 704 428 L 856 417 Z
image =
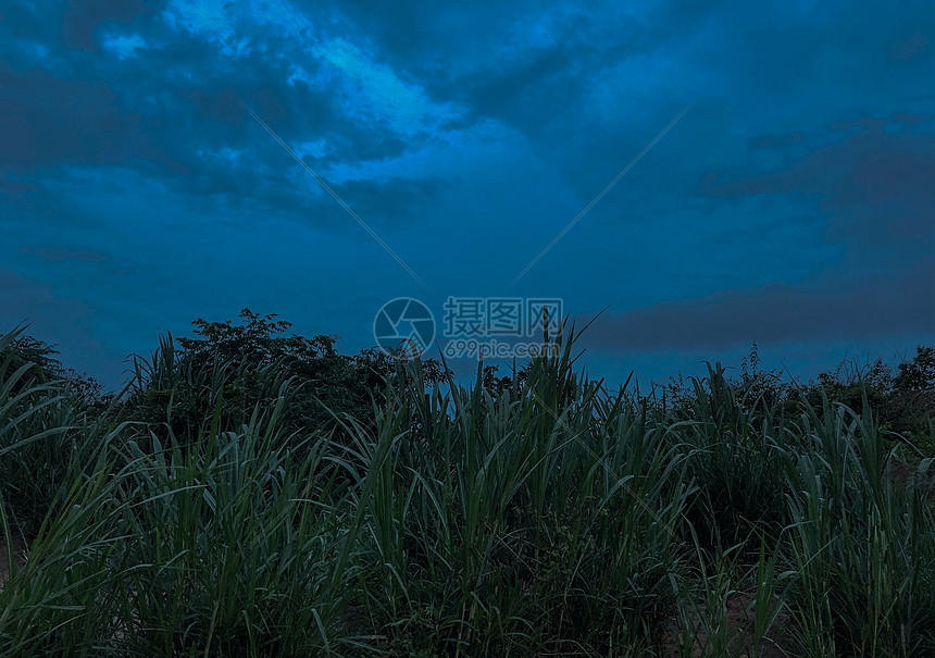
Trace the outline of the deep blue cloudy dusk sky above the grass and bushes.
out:
M 0 333 L 109 387 L 400 297 L 429 356 L 451 297 L 548 298 L 611 384 L 808 380 L 935 344 L 933 281 L 931 2 L 0 3 Z

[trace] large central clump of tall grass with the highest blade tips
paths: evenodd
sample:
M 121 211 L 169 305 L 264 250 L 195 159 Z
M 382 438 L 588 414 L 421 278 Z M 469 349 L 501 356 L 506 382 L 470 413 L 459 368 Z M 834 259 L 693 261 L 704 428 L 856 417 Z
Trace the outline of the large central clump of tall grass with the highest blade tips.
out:
M 652 647 L 687 486 L 645 411 L 581 381 L 568 349 L 496 400 L 479 383 L 426 396 L 417 376 L 402 394 L 362 501 L 364 589 L 392 650 Z

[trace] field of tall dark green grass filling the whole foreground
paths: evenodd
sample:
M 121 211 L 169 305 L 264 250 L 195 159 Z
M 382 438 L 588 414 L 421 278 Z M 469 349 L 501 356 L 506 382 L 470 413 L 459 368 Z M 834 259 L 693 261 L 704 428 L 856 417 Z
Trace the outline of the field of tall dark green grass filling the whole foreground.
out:
M 935 656 L 930 461 L 869 406 L 720 368 L 663 406 L 570 343 L 497 395 L 410 363 L 326 431 L 189 373 L 184 436 L 0 363 L 0 654 Z

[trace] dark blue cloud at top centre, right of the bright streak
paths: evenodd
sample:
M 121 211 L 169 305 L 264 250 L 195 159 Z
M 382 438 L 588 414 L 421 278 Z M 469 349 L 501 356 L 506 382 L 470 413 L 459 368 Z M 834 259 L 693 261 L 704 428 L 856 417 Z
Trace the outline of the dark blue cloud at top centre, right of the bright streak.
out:
M 395 3 L 391 12 L 359 2 L 340 8 L 386 61 L 434 97 L 464 108 L 451 125 L 495 119 L 546 150 L 566 146 L 579 131 L 574 124 L 583 120 L 588 90 L 609 66 L 678 36 L 648 27 L 649 15 L 668 17 L 665 3 L 604 8 L 599 20 L 565 2 L 548 11 L 525 1 L 431 12 L 417 2 Z M 680 12 L 686 14 L 696 16 Z

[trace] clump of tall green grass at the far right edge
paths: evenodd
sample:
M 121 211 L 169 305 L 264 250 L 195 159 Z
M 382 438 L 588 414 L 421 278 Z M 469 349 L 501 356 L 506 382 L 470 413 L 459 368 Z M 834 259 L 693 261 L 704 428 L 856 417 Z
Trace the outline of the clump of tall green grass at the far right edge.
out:
M 803 655 L 935 655 L 935 520 L 893 477 L 865 404 L 809 410 L 789 507 L 791 611 Z

